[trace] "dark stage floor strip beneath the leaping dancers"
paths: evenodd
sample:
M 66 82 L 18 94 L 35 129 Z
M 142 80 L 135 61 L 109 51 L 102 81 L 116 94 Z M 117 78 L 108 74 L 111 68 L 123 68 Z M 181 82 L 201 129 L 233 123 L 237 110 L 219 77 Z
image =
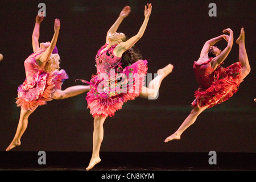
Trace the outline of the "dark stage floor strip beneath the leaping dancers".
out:
M 0 152 L 1 171 L 85 171 L 91 152 Z M 255 153 L 217 152 L 101 152 L 91 171 L 255 171 Z M 39 164 L 38 161 L 46 164 Z

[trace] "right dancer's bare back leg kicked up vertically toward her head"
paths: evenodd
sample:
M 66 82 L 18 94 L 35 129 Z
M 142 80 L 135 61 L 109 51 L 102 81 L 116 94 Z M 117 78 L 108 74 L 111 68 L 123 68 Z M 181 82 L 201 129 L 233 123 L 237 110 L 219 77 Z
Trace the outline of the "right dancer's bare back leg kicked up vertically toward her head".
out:
M 248 56 L 245 49 L 245 30 L 241 28 L 240 36 L 236 43 L 239 45 L 239 61 L 242 64 L 241 79 L 245 78 L 251 71 Z

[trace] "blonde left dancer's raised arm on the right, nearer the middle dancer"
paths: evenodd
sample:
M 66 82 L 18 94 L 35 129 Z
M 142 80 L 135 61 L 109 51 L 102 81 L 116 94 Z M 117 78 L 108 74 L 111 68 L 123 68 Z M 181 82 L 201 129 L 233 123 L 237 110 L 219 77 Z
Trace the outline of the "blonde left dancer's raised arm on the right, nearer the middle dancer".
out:
M 54 35 L 53 35 L 53 38 L 52 38 L 52 41 L 51 41 L 49 47 L 46 49 L 46 51 L 44 51 L 42 53 L 42 56 L 40 57 L 40 61 L 42 63 L 49 60 L 49 57 L 51 56 L 51 53 L 52 53 L 54 47 L 56 46 L 57 39 L 59 36 L 59 31 L 60 31 L 60 20 L 59 19 L 55 19 L 54 31 L 55 32 L 54 32 Z

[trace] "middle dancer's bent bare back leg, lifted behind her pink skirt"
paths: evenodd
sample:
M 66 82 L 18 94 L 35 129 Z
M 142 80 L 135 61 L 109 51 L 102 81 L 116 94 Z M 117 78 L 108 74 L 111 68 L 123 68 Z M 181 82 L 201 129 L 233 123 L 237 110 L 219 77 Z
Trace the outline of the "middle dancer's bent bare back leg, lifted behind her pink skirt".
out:
M 158 96 L 158 90 L 163 79 L 172 72 L 172 69 L 174 69 L 172 64 L 168 64 L 166 67 L 158 69 L 158 76 L 150 81 L 148 88 L 142 86 L 142 92 L 139 94 L 139 97 L 152 100 L 155 99 Z

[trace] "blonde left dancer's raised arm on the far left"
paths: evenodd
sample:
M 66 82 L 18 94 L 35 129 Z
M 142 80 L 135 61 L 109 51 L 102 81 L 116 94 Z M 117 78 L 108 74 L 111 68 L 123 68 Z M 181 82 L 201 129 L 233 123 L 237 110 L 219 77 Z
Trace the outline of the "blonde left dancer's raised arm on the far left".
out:
M 42 13 L 43 14 L 43 13 Z M 32 33 L 32 47 L 36 52 L 39 49 L 40 23 L 43 22 L 44 16 L 36 15 L 35 27 Z

